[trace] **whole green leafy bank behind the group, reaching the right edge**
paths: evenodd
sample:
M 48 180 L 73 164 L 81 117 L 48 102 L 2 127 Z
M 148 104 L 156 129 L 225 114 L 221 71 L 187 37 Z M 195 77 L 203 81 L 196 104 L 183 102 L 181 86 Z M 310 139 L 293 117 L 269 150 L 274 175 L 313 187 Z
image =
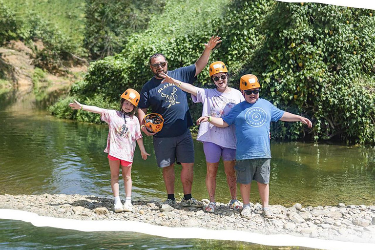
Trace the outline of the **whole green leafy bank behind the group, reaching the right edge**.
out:
M 375 144 L 374 27 L 372 11 L 334 5 L 170 0 L 144 33 L 128 38 L 121 54 L 93 63 L 72 95 L 113 101 L 128 87 L 140 91 L 152 77 L 150 55 L 165 54 L 169 69 L 186 66 L 217 34 L 223 42 L 210 62 L 226 62 L 231 86 L 255 74 L 262 98 L 313 122 L 312 129 L 273 124 L 272 139 Z M 210 86 L 207 69 L 194 84 Z M 190 107 L 194 118 L 200 116 L 201 105 Z

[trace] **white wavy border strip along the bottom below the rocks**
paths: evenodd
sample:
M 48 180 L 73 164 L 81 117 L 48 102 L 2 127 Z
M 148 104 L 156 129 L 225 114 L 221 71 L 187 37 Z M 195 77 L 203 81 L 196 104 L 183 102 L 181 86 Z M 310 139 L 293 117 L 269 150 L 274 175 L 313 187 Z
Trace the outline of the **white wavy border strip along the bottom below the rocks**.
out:
M 173 239 L 209 239 L 209 240 L 231 240 L 244 241 L 268 246 L 300 246 L 324 250 L 374 250 L 375 244 L 354 243 L 343 241 L 329 241 L 312 239 L 307 237 L 297 237 L 287 234 L 265 235 L 252 232 L 236 230 L 211 230 L 202 228 L 169 228 L 150 225 L 135 221 L 90 221 L 72 220 L 55 217 L 39 216 L 36 213 L 1 209 L 0 219 L 21 220 L 30 222 L 36 227 L 52 227 L 58 229 L 73 229 L 84 232 L 95 231 L 129 231 L 149 235 L 161 236 Z

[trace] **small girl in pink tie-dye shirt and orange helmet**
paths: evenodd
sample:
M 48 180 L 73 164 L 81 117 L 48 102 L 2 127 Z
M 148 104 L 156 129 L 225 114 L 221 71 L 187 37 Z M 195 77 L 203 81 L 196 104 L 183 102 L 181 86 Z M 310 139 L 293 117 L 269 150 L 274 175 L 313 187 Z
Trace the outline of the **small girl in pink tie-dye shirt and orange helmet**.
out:
M 101 115 L 101 120 L 109 125 L 107 146 L 104 152 L 108 153 L 109 168 L 111 170 L 111 187 L 115 197 L 115 212 L 130 212 L 131 205 L 131 166 L 136 147 L 135 141 L 141 150 L 144 160 L 149 155 L 143 145 L 143 138 L 138 119 L 134 116 L 140 95 L 134 89 L 127 89 L 121 95 L 120 110 L 104 109 L 97 106 L 83 105 L 74 100 L 69 106 L 72 109 L 81 109 Z M 124 206 L 119 196 L 120 165 L 124 178 L 126 199 Z

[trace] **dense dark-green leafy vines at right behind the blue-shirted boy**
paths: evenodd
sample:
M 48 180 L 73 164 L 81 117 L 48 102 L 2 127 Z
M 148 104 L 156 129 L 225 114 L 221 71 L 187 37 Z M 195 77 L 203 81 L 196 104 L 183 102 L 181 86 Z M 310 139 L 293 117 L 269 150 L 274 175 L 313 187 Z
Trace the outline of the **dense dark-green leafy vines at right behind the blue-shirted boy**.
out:
M 250 65 L 269 100 L 307 116 L 313 129 L 284 123 L 280 139 L 374 144 L 375 19 L 372 11 L 334 5 L 277 3 L 268 36 Z M 278 128 L 279 129 L 279 128 Z

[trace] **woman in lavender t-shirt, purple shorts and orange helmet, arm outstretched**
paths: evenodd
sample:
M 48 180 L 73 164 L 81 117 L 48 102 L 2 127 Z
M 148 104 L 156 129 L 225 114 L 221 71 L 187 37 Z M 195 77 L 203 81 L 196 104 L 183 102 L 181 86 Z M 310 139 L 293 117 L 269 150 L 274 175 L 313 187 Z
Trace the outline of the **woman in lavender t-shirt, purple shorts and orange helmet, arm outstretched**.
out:
M 209 65 L 209 76 L 215 84 L 215 88 L 198 88 L 189 83 L 175 80 L 166 74 L 161 74 L 161 76 L 165 83 L 173 83 L 183 91 L 190 93 L 194 103 L 202 103 L 202 116 L 224 117 L 236 104 L 245 100 L 240 91 L 228 86 L 228 69 L 224 62 L 217 61 Z M 220 158 L 223 159 L 231 196 L 229 206 L 230 208 L 241 209 L 243 204 L 237 200 L 234 170 L 236 154 L 234 125 L 220 128 L 209 123 L 201 123 L 197 140 L 203 142 L 207 163 L 206 186 L 210 203 L 205 211 L 214 212 L 216 208 L 216 174 Z

